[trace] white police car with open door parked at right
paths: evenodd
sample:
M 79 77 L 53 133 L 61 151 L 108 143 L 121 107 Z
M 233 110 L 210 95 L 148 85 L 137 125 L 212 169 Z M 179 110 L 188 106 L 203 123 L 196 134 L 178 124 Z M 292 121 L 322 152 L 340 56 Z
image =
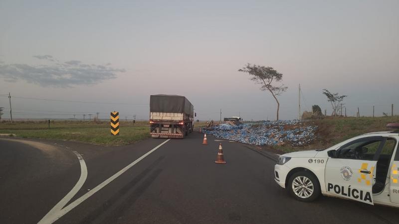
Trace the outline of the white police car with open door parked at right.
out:
M 299 201 L 320 195 L 399 207 L 399 123 L 323 150 L 281 155 L 275 181 Z

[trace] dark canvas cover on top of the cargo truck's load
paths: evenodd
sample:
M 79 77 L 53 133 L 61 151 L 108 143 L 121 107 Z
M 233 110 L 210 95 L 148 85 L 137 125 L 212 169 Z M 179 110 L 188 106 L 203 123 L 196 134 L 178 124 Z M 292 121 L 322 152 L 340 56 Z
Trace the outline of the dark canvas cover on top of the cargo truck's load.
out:
M 178 95 L 151 95 L 150 112 L 185 113 L 194 117 L 194 106 L 186 97 Z

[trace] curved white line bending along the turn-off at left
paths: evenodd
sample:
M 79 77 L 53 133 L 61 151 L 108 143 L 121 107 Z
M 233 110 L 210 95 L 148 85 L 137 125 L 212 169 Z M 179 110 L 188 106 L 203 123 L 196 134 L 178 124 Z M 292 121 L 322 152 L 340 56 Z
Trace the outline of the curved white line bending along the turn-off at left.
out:
M 76 152 L 73 151 L 73 153 L 75 153 L 75 155 L 78 157 L 79 159 L 79 163 L 80 163 L 80 178 L 78 180 L 78 182 L 76 182 L 75 186 L 72 188 L 72 190 L 65 195 L 64 198 L 61 199 L 61 201 L 59 201 L 51 210 L 50 212 L 48 212 L 40 221 L 39 224 L 47 224 L 47 223 L 52 223 L 52 217 L 57 214 L 62 208 L 64 208 L 64 206 L 66 205 L 66 203 L 68 203 L 73 196 L 76 195 L 76 193 L 78 193 L 78 191 L 80 190 L 80 188 L 82 188 L 84 182 L 86 181 L 87 178 L 87 166 L 86 163 L 84 162 L 82 156 Z

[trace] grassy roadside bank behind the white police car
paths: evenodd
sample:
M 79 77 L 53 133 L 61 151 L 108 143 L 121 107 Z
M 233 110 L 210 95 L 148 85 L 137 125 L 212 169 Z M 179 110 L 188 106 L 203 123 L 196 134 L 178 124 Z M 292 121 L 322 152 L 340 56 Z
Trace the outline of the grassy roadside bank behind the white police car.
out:
M 306 124 L 317 125 L 317 139 L 305 147 L 277 146 L 274 149 L 283 152 L 307 149 L 323 149 L 360 134 L 392 130 L 388 123 L 399 123 L 399 116 L 389 117 L 327 117 L 320 120 L 308 120 Z

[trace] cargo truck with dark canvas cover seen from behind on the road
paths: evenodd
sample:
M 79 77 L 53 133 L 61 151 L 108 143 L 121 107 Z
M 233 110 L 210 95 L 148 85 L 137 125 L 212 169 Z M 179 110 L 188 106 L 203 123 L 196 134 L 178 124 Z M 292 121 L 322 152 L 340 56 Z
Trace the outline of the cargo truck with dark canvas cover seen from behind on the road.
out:
M 153 138 L 184 138 L 193 132 L 194 106 L 178 95 L 150 96 L 150 132 Z

